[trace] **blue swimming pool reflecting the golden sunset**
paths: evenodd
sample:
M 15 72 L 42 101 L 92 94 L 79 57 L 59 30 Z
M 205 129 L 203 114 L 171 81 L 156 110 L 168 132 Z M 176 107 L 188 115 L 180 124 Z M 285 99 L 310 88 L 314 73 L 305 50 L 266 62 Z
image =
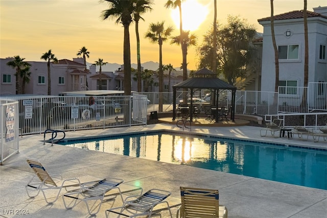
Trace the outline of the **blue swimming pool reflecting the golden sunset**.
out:
M 172 132 L 77 139 L 58 144 L 327 190 L 327 152 L 322 150 Z

